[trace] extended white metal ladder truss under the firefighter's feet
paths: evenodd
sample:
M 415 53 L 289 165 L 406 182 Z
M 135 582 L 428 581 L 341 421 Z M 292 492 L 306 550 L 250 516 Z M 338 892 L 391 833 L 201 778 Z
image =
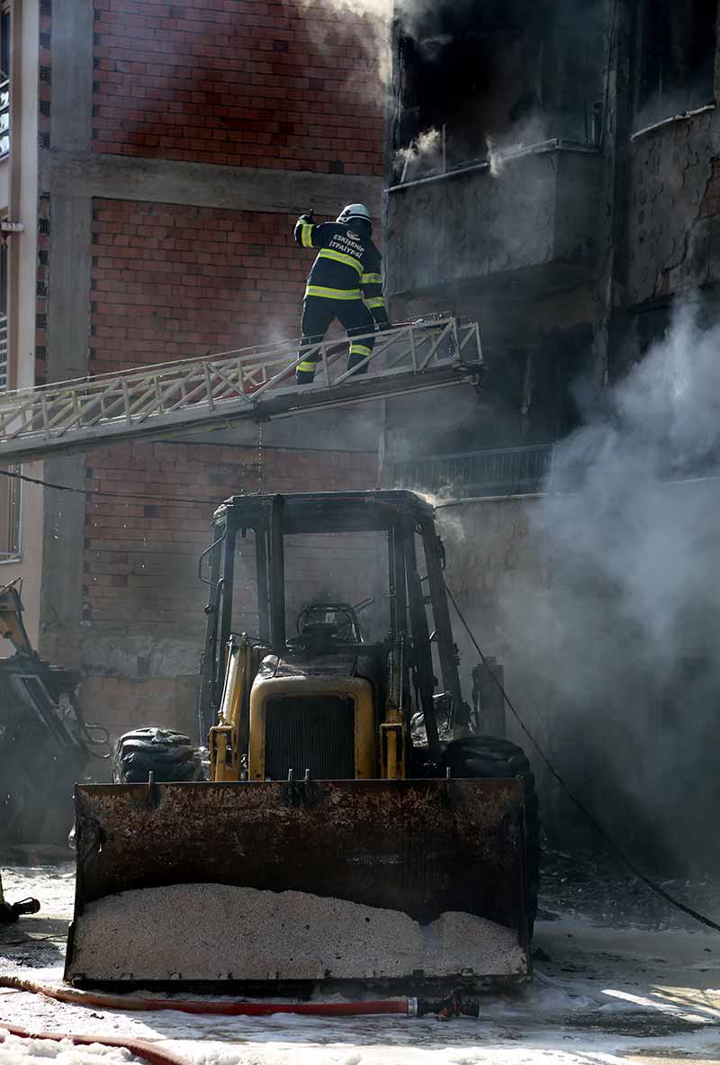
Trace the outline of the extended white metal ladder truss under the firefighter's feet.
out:
M 353 340 L 369 337 L 375 351 L 366 374 L 344 370 L 346 340 L 300 348 L 287 341 L 2 393 L 0 460 L 477 383 L 481 373 L 480 330 L 473 322 L 438 316 Z M 314 382 L 296 386 L 297 364 L 315 357 Z

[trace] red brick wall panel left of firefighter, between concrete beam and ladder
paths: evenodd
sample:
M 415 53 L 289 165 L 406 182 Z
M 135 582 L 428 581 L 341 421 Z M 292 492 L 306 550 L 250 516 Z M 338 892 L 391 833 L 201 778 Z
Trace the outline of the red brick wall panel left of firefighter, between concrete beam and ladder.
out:
M 299 334 L 311 258 L 294 217 L 128 200 L 93 204 L 91 367 Z

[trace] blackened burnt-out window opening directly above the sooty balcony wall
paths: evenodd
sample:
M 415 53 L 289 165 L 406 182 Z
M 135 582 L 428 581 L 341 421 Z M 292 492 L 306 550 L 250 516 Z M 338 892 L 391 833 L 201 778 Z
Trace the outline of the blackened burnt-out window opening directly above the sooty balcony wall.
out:
M 554 138 L 595 145 L 607 26 L 601 0 L 575 6 L 443 0 L 398 16 L 394 181 Z

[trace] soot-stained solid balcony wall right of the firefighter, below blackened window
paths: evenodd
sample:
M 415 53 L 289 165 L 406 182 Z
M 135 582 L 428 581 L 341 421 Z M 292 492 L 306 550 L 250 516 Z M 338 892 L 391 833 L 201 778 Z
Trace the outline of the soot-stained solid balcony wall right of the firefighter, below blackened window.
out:
M 388 191 L 395 297 L 536 294 L 578 283 L 592 260 L 600 154 L 553 138 Z M 512 282 L 512 283 L 509 283 Z

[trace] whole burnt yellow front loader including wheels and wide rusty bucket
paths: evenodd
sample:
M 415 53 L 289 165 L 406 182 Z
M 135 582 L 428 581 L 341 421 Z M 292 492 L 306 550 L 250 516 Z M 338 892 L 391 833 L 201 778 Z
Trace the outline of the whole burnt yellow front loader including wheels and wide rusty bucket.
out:
M 68 981 L 418 994 L 528 978 L 533 775 L 476 735 L 443 566 L 410 492 L 218 508 L 200 569 L 208 768 L 186 737 L 138 730 L 119 783 L 77 788 Z

